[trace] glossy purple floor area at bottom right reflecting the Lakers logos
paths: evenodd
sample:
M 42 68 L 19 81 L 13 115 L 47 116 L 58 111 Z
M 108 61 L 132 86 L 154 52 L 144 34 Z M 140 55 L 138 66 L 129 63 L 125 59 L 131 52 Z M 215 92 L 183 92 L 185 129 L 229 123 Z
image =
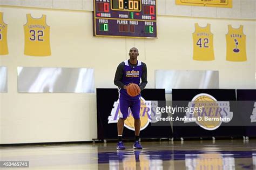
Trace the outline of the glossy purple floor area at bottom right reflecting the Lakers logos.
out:
M 109 164 L 109 169 L 255 169 L 256 151 L 105 152 L 98 153 L 98 164 Z

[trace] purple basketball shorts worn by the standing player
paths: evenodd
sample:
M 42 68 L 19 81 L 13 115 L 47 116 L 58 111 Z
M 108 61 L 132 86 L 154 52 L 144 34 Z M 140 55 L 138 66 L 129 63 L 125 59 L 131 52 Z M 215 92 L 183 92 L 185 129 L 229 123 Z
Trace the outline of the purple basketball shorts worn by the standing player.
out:
M 140 113 L 140 100 L 138 101 L 130 101 L 130 100 L 123 100 L 119 99 L 120 104 L 120 118 L 126 119 L 128 116 L 128 109 L 131 108 L 132 115 L 134 119 L 139 119 Z

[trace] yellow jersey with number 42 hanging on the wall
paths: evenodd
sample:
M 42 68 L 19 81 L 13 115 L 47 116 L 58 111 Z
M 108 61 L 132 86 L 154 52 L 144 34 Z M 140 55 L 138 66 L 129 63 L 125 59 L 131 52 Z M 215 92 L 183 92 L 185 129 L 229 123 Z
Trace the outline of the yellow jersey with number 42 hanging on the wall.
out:
M 214 60 L 213 51 L 213 34 L 211 33 L 211 25 L 200 27 L 195 24 L 193 33 L 193 59 L 201 61 Z

